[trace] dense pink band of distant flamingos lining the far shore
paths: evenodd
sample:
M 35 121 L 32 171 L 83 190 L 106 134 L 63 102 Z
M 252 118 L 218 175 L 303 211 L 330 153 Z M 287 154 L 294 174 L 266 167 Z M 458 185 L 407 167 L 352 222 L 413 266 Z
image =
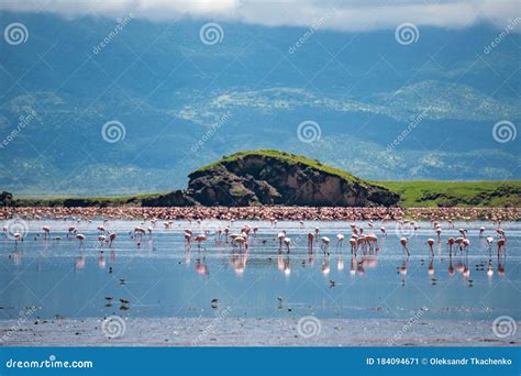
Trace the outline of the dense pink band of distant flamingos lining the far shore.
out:
M 481 220 L 521 221 L 521 208 L 355 208 L 355 207 L 4 207 L 0 220 Z

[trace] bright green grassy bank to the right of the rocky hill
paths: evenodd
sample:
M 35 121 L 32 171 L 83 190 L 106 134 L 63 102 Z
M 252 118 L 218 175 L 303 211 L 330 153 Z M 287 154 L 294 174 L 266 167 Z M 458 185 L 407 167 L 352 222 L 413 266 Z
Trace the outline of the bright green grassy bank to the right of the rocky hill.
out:
M 521 181 L 376 181 L 400 195 L 400 206 L 521 207 Z

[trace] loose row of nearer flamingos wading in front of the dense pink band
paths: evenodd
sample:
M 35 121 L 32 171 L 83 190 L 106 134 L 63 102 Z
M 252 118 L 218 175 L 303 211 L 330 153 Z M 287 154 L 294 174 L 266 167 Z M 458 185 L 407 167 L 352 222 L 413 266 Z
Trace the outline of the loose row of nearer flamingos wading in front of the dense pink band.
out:
M 33 219 L 31 219 L 33 220 Z M 36 218 L 38 220 L 38 218 Z M 79 231 L 79 228 L 82 226 L 82 222 L 87 221 L 88 223 L 92 223 L 92 219 L 82 219 L 82 218 L 76 218 L 73 217 L 70 219 L 64 219 L 65 221 L 73 221 L 74 225 L 68 225 L 66 230 L 54 230 L 51 229 L 49 225 L 42 225 L 42 232 L 37 232 L 34 234 L 34 240 L 36 241 L 40 237 L 43 237 L 45 241 L 56 241 L 59 242 L 64 237 L 68 240 L 74 240 L 76 239 L 79 243 L 79 247 L 82 248 L 85 247 L 85 242 L 87 241 L 87 235 L 82 232 Z M 100 252 L 103 252 L 103 247 L 108 246 L 109 248 L 112 248 L 119 234 L 115 230 L 109 230 L 108 229 L 108 223 L 109 219 L 102 219 L 102 223 L 97 225 L 97 231 L 98 233 L 95 235 L 96 237 L 93 239 L 99 248 Z M 323 253 L 324 258 L 326 259 L 326 263 L 322 265 L 322 272 L 324 274 L 329 274 L 330 272 L 330 266 L 329 266 L 329 256 L 333 250 L 337 254 L 342 254 L 343 250 L 343 244 L 346 239 L 348 239 L 348 247 L 351 250 L 351 255 L 352 255 L 352 268 L 351 272 L 355 273 L 363 273 L 364 268 L 363 266 L 366 265 L 367 263 L 370 264 L 372 258 L 365 258 L 362 263 L 357 262 L 357 256 L 359 253 L 362 253 L 363 257 L 367 255 L 373 255 L 375 256 L 379 250 L 380 250 L 380 241 L 383 239 L 386 239 L 387 236 L 387 230 L 384 226 L 386 222 L 389 221 L 387 219 L 381 220 L 378 224 L 374 222 L 373 219 L 366 222 L 366 228 L 361 224 L 356 223 L 350 223 L 346 225 L 348 229 L 348 235 L 344 235 L 344 233 L 337 233 L 335 237 L 331 239 L 330 236 L 326 236 L 322 234 L 321 229 L 319 226 L 307 230 L 306 229 L 306 222 L 303 220 L 299 220 L 299 225 L 300 225 L 300 232 L 302 235 L 297 235 L 297 239 L 291 239 L 288 232 L 284 229 L 279 229 L 280 223 L 278 223 L 278 220 L 276 218 L 270 218 L 269 219 L 269 228 L 263 228 L 259 230 L 258 226 L 252 226 L 250 224 L 243 224 L 239 226 L 234 226 L 234 219 L 230 219 L 226 225 L 222 225 L 223 221 L 220 221 L 219 224 L 221 226 L 213 226 L 213 229 L 208 229 L 208 225 L 206 221 L 201 220 L 189 220 L 188 224 L 189 228 L 186 228 L 181 230 L 181 234 L 184 236 L 184 242 L 185 246 L 187 250 L 190 250 L 192 246 L 192 243 L 197 244 L 198 250 L 206 250 L 206 244 L 207 242 L 211 241 L 212 239 L 215 241 L 217 244 L 226 244 L 231 245 L 233 248 L 239 250 L 239 254 L 235 254 L 232 257 L 232 264 L 235 267 L 235 270 L 237 274 L 242 274 L 245 268 L 245 263 L 247 259 L 248 255 L 248 250 L 250 245 L 252 242 L 262 243 L 263 246 L 270 246 L 271 244 L 277 244 L 278 245 L 278 266 L 279 269 L 282 270 L 285 274 L 290 273 L 290 265 L 289 265 L 289 254 L 291 251 L 301 242 L 307 241 L 307 248 L 309 254 L 311 255 L 311 258 L 309 259 L 310 263 L 312 263 L 312 254 L 314 251 L 314 246 L 319 246 L 320 251 Z M 157 226 L 163 226 L 165 230 L 173 229 L 174 225 L 176 224 L 176 221 L 174 220 L 166 220 L 163 221 L 163 225 L 158 224 L 159 219 L 153 218 L 149 220 L 144 220 L 140 223 L 140 225 L 134 226 L 131 231 L 128 232 L 128 235 L 135 242 L 137 247 L 141 247 L 142 241 L 144 240 L 145 236 L 149 236 L 152 239 L 153 233 L 156 231 Z M 196 223 L 193 223 L 196 222 Z M 58 222 L 59 223 L 59 222 Z M 215 222 L 213 222 L 215 223 Z M 406 257 L 406 261 L 403 264 L 399 267 L 399 272 L 404 275 L 407 273 L 407 264 L 409 256 L 411 255 L 411 250 L 409 248 L 409 240 L 410 237 L 415 234 L 418 230 L 421 229 L 419 224 L 417 224 L 412 220 L 398 220 L 398 221 L 392 221 L 395 224 L 395 232 L 397 235 L 399 235 L 399 244 L 403 248 L 403 256 Z M 454 221 L 453 220 L 447 220 L 447 229 L 453 230 L 454 229 Z M 490 234 L 486 235 L 486 229 L 483 226 L 479 229 L 479 239 L 484 239 L 487 243 L 487 246 L 490 251 L 494 244 L 496 244 L 496 251 L 498 255 L 498 259 L 501 254 L 506 253 L 506 244 L 507 244 L 507 235 L 506 231 L 501 229 L 501 220 L 496 220 L 492 221 L 494 229 L 496 236 L 492 236 Z M 180 226 L 180 223 L 177 223 L 178 226 Z M 282 222 L 284 225 L 284 222 Z M 432 261 L 435 256 L 434 252 L 434 244 L 441 244 L 442 243 L 442 233 L 444 229 L 442 229 L 442 223 L 441 221 L 435 221 L 431 220 L 430 221 L 430 226 L 433 233 L 433 237 L 429 237 L 426 240 L 426 250 L 429 253 L 430 257 L 430 265 L 429 265 L 429 274 L 433 274 L 433 264 Z M 365 228 L 365 229 L 364 229 Z M 378 229 L 379 228 L 379 229 Z M 346 233 L 347 233 L 346 232 Z M 376 232 L 379 232 L 379 236 L 376 235 Z M 456 237 L 447 237 L 444 242 L 447 245 L 447 252 L 448 256 L 451 257 L 451 266 L 450 266 L 450 274 L 454 274 L 454 268 L 452 267 L 452 256 L 455 254 L 465 254 L 468 256 L 468 251 L 470 248 L 470 240 L 468 237 L 468 230 L 467 229 L 458 229 L 459 236 Z M 12 232 L 11 229 L 9 229 L 9 225 L 3 226 L 3 234 L 4 237 L 7 239 L 13 239 L 15 246 L 19 246 L 24 241 L 24 235 L 22 232 Z M 403 236 L 401 236 L 403 235 Z M 257 237 L 258 236 L 258 237 Z M 241 253 L 243 252 L 243 253 Z M 284 253 L 288 255 L 287 258 L 284 258 Z M 82 261 L 85 264 L 85 259 Z M 81 264 L 81 263 L 80 263 Z M 490 275 L 494 273 L 491 270 L 491 263 L 489 263 L 489 269 L 488 274 Z M 104 262 L 103 262 L 104 266 Z M 337 268 L 339 270 L 342 270 L 344 267 L 343 258 L 339 258 L 339 265 Z M 459 269 L 459 268 L 458 268 Z M 198 258 L 198 263 L 196 265 L 196 270 L 200 274 L 208 274 L 208 267 L 204 262 L 204 257 Z M 464 276 L 468 276 L 469 270 L 468 266 L 463 266 L 462 267 L 462 274 Z M 502 272 L 499 270 L 500 274 Z

